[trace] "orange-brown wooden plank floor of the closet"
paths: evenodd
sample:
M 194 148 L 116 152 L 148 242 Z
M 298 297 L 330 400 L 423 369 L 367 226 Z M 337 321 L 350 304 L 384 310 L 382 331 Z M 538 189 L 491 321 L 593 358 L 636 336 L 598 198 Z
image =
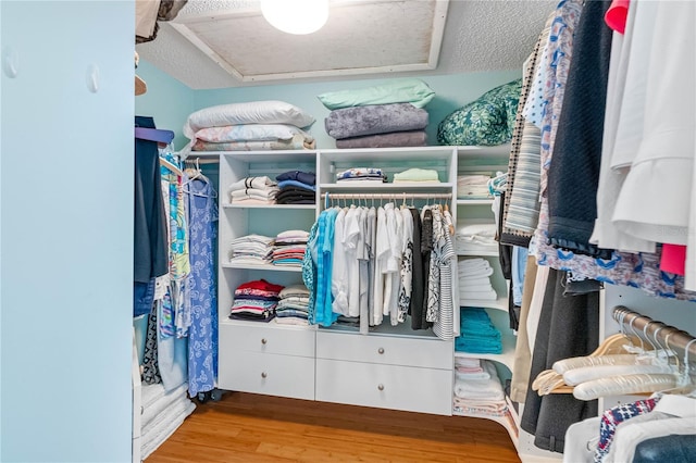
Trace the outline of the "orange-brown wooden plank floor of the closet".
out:
M 226 392 L 196 411 L 146 463 L 520 462 L 506 429 L 437 416 Z

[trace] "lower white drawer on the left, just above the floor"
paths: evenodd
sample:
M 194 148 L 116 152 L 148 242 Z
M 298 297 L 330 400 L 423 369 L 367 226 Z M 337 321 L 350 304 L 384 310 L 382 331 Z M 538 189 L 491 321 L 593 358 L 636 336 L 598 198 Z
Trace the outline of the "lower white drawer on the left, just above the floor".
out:
M 241 352 L 219 370 L 221 389 L 314 400 L 314 359 Z

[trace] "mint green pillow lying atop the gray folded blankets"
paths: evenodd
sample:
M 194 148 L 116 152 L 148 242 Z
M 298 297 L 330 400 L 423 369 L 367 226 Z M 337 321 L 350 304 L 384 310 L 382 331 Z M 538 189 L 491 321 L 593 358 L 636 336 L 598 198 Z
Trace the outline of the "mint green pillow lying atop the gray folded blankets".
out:
M 434 97 L 435 92 L 423 80 L 408 78 L 357 90 L 330 91 L 316 98 L 327 109 L 339 110 L 390 103 L 411 103 L 415 108 L 423 108 Z

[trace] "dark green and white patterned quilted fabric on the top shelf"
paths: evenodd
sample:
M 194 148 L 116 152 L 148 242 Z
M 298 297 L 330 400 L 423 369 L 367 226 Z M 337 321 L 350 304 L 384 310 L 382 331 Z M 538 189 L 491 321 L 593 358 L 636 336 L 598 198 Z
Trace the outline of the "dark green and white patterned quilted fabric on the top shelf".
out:
M 445 117 L 437 142 L 450 146 L 494 146 L 510 141 L 520 101 L 522 79 L 488 90 Z

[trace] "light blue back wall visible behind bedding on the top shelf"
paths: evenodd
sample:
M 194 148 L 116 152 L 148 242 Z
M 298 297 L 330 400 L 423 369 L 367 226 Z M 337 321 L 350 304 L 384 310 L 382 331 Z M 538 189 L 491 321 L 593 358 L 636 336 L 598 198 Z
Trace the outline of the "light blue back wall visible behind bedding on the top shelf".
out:
M 462 104 L 475 100 L 486 90 L 519 78 L 521 75 L 522 71 L 520 70 L 420 77 L 435 91 L 435 98 L 425 108 L 430 115 L 430 124 L 426 129 L 427 143 L 437 145 L 437 125 L 449 113 Z M 398 77 L 395 76 L 395 78 Z M 387 79 L 360 79 L 198 90 L 195 93 L 195 109 L 256 100 L 287 101 L 316 117 L 316 122 L 309 132 L 316 139 L 318 148 L 336 148 L 335 140 L 326 134 L 324 128 L 324 118 L 328 115 L 328 110 L 324 108 L 316 96 L 326 91 L 365 88 L 385 82 Z

